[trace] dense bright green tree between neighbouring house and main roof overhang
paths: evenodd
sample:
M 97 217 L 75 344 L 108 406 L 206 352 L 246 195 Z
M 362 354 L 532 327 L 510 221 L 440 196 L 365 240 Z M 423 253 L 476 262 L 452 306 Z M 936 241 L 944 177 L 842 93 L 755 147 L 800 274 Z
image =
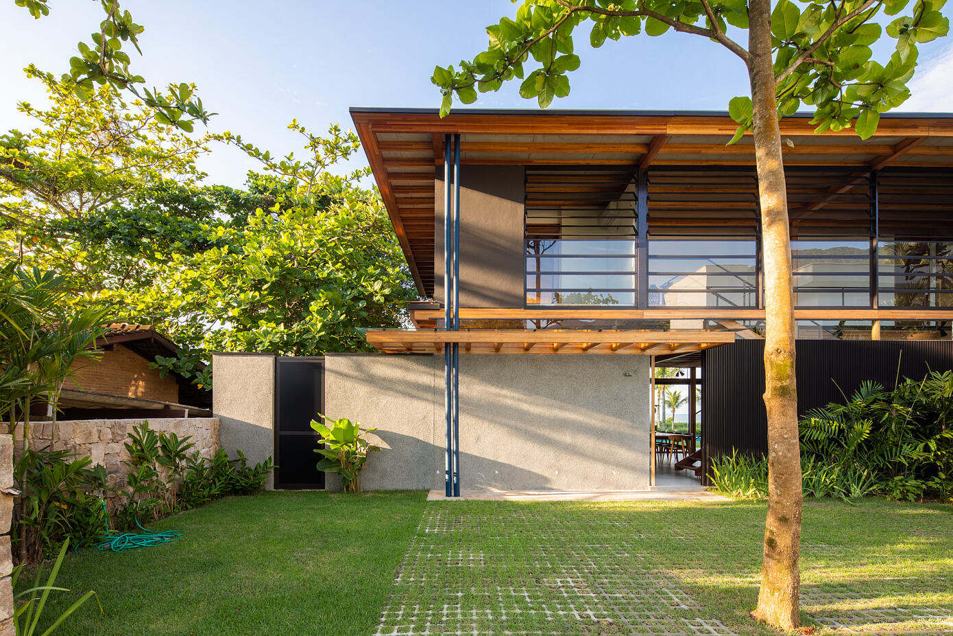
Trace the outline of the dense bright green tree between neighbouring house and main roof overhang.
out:
M 157 284 L 98 297 L 202 352 L 366 350 L 361 329 L 398 324 L 411 279 L 376 193 L 327 199 L 278 195 L 240 223 L 202 224 L 208 249 L 173 249 L 154 263 Z

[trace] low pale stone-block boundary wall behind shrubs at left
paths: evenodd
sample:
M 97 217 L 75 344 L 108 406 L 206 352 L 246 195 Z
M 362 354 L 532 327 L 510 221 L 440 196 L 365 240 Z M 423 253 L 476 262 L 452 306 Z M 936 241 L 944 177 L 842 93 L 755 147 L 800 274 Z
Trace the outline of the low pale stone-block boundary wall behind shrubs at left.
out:
M 130 468 L 123 462 L 130 459 L 126 450 L 129 434 L 136 426 L 149 423 L 156 433 L 174 433 L 180 439 L 191 437 L 194 442 L 189 453 L 198 451 L 210 460 L 218 451 L 218 420 L 215 418 L 139 418 L 131 420 L 71 420 L 56 423 L 56 440 L 53 441 L 53 424 L 50 421 L 35 422 L 30 426 L 30 446 L 51 446 L 53 450 L 69 450 L 78 455 L 89 456 L 93 465 L 101 464 L 112 487 L 125 485 Z M 18 439 L 23 439 L 22 425 Z

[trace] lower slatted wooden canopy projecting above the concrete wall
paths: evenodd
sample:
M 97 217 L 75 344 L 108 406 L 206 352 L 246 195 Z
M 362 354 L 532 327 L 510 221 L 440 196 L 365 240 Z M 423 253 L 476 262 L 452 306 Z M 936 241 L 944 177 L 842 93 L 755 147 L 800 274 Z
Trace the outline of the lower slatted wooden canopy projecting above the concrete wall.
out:
M 583 329 L 463 329 L 368 331 L 366 338 L 384 353 L 442 353 L 451 342 L 467 354 L 620 354 L 659 356 L 701 351 L 735 341 L 734 332 Z

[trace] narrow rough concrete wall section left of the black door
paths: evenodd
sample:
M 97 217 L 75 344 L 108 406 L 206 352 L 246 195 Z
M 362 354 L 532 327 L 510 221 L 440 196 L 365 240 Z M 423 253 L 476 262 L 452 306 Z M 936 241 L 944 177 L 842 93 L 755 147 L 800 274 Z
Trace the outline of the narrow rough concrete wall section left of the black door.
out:
M 245 453 L 251 463 L 274 456 L 274 356 L 214 354 L 213 415 L 218 444 L 230 455 Z M 265 488 L 271 490 L 269 477 Z

